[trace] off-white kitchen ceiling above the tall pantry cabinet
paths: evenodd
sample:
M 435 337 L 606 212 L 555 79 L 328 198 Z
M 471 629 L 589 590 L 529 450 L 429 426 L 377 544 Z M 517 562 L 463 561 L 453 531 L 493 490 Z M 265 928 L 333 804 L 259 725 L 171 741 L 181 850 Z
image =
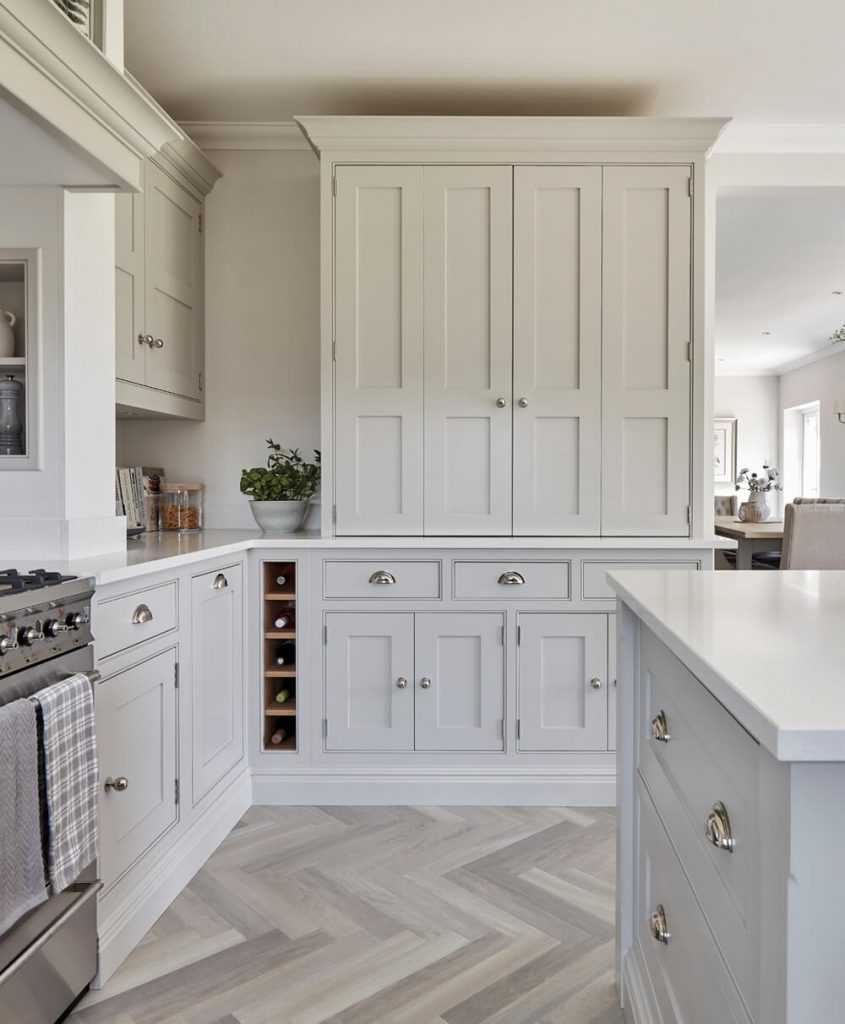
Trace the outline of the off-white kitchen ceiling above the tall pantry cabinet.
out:
M 841 0 L 125 0 L 180 121 L 294 114 L 845 121 Z

